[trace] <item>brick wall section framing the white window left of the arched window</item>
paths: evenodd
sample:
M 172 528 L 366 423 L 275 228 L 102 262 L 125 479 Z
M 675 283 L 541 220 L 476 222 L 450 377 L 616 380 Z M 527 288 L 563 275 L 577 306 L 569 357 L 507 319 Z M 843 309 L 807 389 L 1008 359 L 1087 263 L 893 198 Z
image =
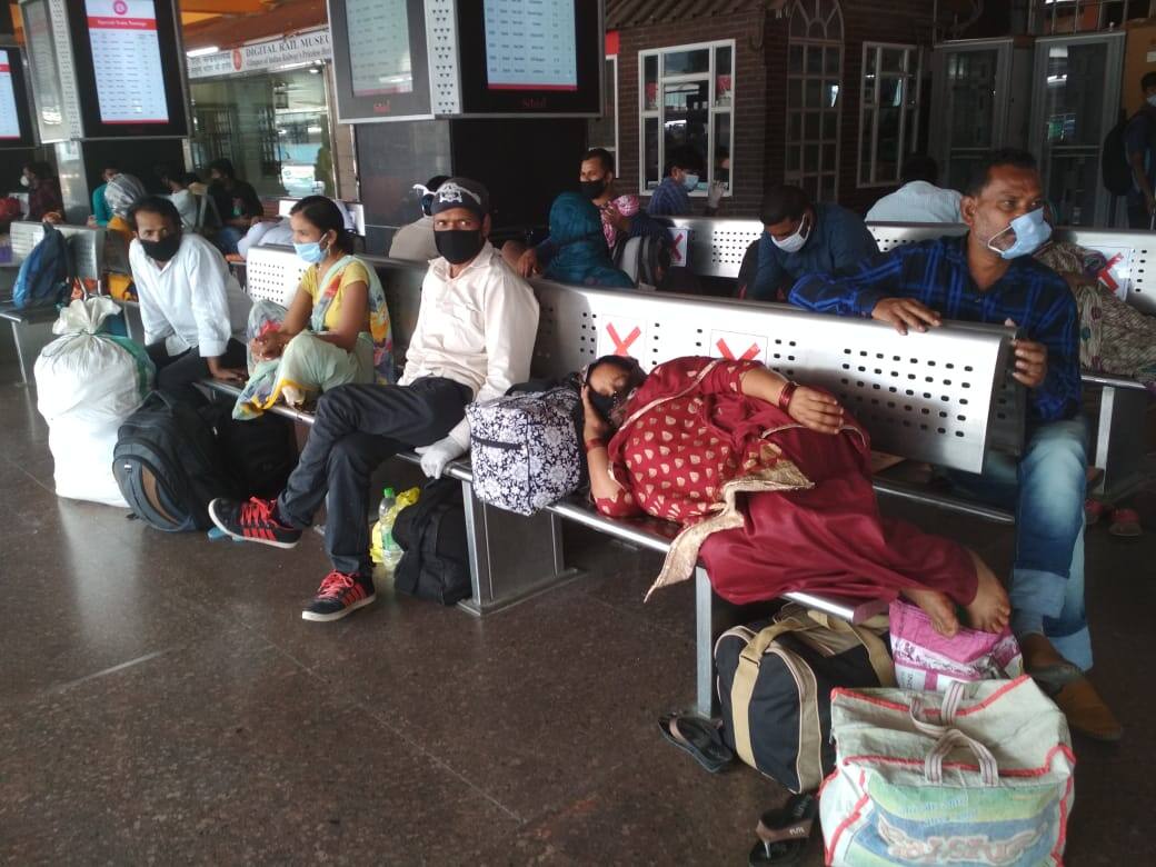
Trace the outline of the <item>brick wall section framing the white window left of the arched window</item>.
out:
M 766 75 L 757 43 L 762 16 L 756 13 L 695 18 L 673 24 L 654 24 L 620 31 L 618 49 L 618 176 L 624 190 L 640 183 L 638 123 L 638 52 L 692 43 L 735 40 L 734 71 L 734 151 L 731 171 L 735 179 L 733 195 L 722 200 L 719 216 L 754 216 L 764 185 L 763 141 L 766 124 L 763 113 Z M 711 155 L 705 155 L 711 158 Z M 697 212 L 706 200 L 692 199 Z

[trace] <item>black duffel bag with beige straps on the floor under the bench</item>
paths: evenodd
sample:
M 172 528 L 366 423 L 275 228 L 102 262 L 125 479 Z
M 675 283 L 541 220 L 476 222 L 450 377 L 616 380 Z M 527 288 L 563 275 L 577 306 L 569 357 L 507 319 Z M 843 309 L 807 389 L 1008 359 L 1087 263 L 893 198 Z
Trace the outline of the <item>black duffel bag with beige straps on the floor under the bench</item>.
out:
M 887 616 L 860 627 L 790 603 L 735 627 L 714 645 L 722 740 L 792 792 L 813 792 L 835 768 L 831 690 L 894 687 Z

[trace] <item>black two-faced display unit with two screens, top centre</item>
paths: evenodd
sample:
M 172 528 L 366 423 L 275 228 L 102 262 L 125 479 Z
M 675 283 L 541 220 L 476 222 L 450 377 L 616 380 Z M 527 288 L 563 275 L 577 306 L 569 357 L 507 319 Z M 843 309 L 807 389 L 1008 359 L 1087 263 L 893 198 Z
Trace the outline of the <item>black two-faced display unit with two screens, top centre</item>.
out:
M 346 123 L 596 117 L 602 0 L 328 0 Z

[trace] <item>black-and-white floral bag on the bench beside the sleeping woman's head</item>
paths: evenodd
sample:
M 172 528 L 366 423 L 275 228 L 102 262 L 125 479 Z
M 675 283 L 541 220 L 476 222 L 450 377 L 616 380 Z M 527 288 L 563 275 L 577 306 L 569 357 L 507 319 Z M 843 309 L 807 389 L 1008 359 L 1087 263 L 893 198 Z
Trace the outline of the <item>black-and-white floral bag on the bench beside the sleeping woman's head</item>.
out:
M 511 394 L 466 407 L 474 492 L 483 503 L 533 514 L 578 490 L 583 457 L 572 388 Z

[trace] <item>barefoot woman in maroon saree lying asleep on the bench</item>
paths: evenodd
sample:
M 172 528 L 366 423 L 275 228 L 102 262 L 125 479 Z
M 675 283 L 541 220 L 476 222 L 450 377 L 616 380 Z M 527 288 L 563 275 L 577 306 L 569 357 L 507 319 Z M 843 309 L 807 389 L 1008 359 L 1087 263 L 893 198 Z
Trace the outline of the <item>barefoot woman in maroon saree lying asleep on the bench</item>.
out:
M 1007 624 L 1007 594 L 977 555 L 880 514 L 867 433 L 825 392 L 754 362 L 676 358 L 646 375 L 608 356 L 591 364 L 583 400 L 599 511 L 683 527 L 651 592 L 702 560 L 732 602 L 898 594 L 944 635 L 959 627 L 956 606 L 976 629 Z

